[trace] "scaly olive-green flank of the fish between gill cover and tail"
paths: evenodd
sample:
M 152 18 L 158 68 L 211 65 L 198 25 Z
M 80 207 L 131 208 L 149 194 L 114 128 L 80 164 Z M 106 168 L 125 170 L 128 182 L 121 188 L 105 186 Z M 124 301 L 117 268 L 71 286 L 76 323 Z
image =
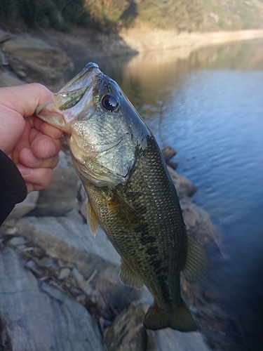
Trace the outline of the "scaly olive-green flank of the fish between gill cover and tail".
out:
M 126 186 L 116 189 L 121 199 L 140 213 L 140 225 L 132 223 L 127 227 L 127 223 L 119 223 L 118 213 L 107 216 L 104 198 L 108 190 L 85 183 L 84 186 L 95 213 L 101 218 L 102 228 L 121 257 L 143 279 L 159 305 L 173 309 L 174 303 L 182 303 L 178 289 L 175 289 L 179 279 L 174 277 L 185 263 L 187 233 L 180 225 L 179 204 L 173 201 L 175 187 L 171 181 L 167 182 L 159 147 L 154 138 L 148 141 L 148 145 Z M 177 228 L 177 235 L 174 228 Z

